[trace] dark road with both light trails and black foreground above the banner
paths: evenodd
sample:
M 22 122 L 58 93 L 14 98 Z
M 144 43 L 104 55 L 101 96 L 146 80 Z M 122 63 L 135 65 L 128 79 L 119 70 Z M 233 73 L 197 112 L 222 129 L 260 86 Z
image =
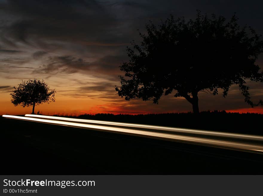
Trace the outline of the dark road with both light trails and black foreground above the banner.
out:
M 263 173 L 262 136 L 40 115 L 4 117 L 7 174 L 21 168 L 30 174 Z

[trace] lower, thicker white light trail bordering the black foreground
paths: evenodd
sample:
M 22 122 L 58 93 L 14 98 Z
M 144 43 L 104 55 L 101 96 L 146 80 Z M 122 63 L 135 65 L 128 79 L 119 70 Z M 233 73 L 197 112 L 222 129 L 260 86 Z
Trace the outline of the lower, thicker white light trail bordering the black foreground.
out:
M 161 133 L 161 132 L 159 133 L 159 132 L 145 131 L 145 130 L 139 130 L 139 129 L 118 128 L 118 127 L 112 127 L 112 126 L 92 125 L 92 124 L 83 124 L 83 123 L 58 121 L 58 120 L 47 120 L 47 119 L 41 119 L 41 118 L 22 117 L 22 116 L 13 116 L 13 115 L 3 115 L 3 117 L 19 119 L 19 120 L 42 122 L 42 123 L 50 123 L 50 124 L 56 124 L 56 125 L 74 126 L 74 127 L 80 127 L 80 128 L 99 129 L 99 130 L 106 130 L 106 131 L 119 132 L 119 133 L 132 134 L 132 135 L 149 136 L 149 137 L 154 137 L 154 138 L 163 138 L 163 139 L 169 139 L 173 141 L 190 142 L 190 143 L 195 143 L 195 144 L 208 145 L 208 146 L 227 148 L 227 149 L 235 149 L 235 150 L 254 152 L 254 153 L 263 152 L 262 145 L 251 144 L 251 143 L 241 143 L 238 141 L 207 139 L 207 138 L 199 138 L 199 137 L 192 137 L 192 136 L 176 135 L 172 133 L 171 134 Z

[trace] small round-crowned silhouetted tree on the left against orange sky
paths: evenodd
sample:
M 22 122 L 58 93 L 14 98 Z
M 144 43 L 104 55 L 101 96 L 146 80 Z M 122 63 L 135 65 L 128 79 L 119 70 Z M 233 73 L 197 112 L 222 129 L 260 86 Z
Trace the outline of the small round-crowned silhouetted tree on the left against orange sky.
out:
M 35 113 L 35 105 L 42 103 L 50 103 L 55 101 L 55 89 L 49 91 L 48 84 L 44 80 L 38 79 L 23 81 L 18 84 L 18 87 L 14 87 L 14 90 L 10 94 L 12 99 L 11 102 L 17 106 L 23 107 L 33 106 L 32 114 Z

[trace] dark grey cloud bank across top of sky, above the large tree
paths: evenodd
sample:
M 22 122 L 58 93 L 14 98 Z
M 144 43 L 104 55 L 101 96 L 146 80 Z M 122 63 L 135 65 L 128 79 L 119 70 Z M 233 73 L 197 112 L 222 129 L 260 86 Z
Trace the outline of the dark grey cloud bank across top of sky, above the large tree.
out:
M 41 45 L 46 40 L 67 41 L 83 45 L 126 45 L 137 28 L 149 20 L 175 16 L 195 16 L 195 10 L 230 17 L 237 12 L 241 23 L 262 31 L 260 7 L 262 2 L 250 1 L 95 1 L 95 0 L 7 0 L 0 11 L 10 21 L 4 23 L 1 38 L 6 44 L 23 42 Z M 262 32 L 261 32 L 262 33 Z M 50 43 L 50 42 L 49 42 Z M 45 43 L 46 44 L 46 43 Z M 48 46 L 48 44 L 46 45 Z

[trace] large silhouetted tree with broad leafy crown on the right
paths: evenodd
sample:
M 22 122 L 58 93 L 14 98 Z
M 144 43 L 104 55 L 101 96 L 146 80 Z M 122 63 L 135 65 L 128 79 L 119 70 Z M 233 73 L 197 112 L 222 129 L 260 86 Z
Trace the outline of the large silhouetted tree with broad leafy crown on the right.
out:
M 245 102 L 253 107 L 246 81 L 263 81 L 263 72 L 255 64 L 263 52 L 261 35 L 251 27 L 240 27 L 234 15 L 230 21 L 223 16 L 197 13 L 195 20 L 174 19 L 156 26 L 146 24 L 142 42 L 127 47 L 129 62 L 120 66 L 121 87 L 117 94 L 125 97 L 158 100 L 163 93 L 176 90 L 175 97 L 184 97 L 199 113 L 198 92 L 213 95 L 222 89 L 226 97 L 230 86 L 238 85 Z

